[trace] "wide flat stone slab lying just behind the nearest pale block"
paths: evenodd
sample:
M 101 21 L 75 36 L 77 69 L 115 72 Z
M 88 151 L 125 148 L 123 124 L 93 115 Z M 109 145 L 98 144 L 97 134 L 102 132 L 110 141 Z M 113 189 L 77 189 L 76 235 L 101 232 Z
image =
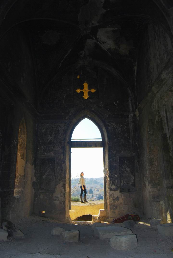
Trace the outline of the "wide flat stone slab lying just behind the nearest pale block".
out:
M 130 229 L 117 227 L 95 227 L 94 235 L 100 239 L 110 239 L 114 236 L 120 235 L 132 235 L 133 232 Z

